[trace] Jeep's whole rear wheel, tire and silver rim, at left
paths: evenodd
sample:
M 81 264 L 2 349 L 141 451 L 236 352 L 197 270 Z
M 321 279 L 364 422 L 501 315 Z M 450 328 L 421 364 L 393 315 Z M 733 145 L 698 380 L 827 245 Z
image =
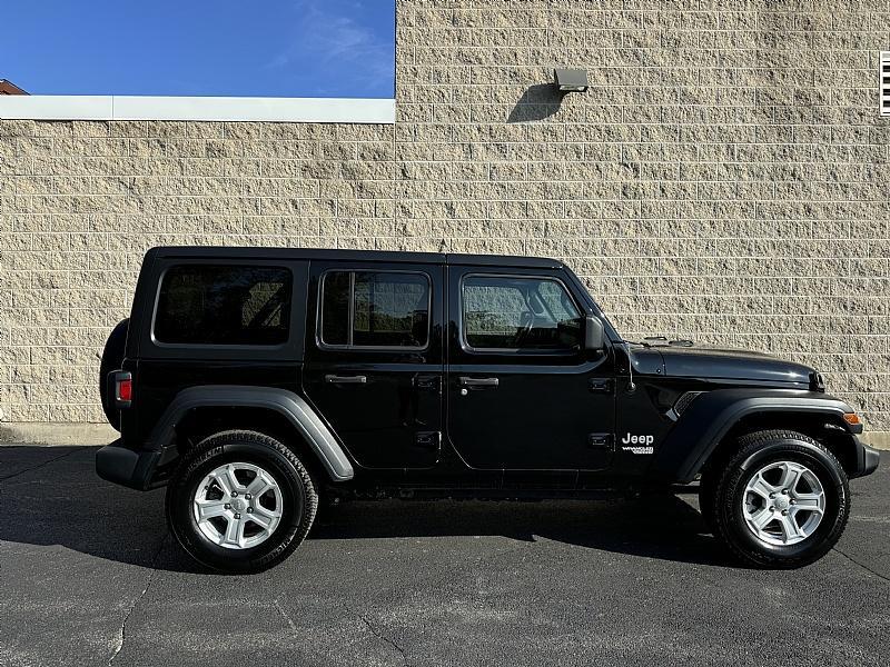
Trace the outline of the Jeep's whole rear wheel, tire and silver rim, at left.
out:
M 224 431 L 188 452 L 167 488 L 179 544 L 214 569 L 256 573 L 296 549 L 318 508 L 299 458 L 269 436 Z

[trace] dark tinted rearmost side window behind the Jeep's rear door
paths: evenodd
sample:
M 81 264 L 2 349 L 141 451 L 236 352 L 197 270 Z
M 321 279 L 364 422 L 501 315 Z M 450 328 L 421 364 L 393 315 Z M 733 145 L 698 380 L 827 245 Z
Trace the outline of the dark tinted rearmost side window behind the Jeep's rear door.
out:
M 287 342 L 290 270 L 283 267 L 181 265 L 164 275 L 155 340 L 174 345 Z

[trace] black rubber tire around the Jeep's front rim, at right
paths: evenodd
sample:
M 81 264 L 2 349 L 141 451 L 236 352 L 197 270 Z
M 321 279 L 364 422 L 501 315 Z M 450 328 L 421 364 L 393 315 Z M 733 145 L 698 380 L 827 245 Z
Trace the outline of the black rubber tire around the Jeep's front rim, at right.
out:
M 749 529 L 743 514 L 743 496 L 749 480 L 774 461 L 807 466 L 821 482 L 825 511 L 815 530 L 798 544 L 774 545 L 759 539 Z M 809 565 L 837 544 L 850 515 L 850 487 L 840 461 L 823 445 L 790 430 L 764 430 L 739 439 L 739 449 L 718 475 L 713 501 L 706 511 L 715 536 L 742 563 L 754 567 L 788 569 Z M 705 510 L 705 507 L 702 507 Z

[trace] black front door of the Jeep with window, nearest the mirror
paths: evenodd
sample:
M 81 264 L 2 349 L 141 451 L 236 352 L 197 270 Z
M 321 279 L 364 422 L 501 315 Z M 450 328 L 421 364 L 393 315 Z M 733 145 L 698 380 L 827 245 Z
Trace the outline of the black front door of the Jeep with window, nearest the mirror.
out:
M 583 349 L 560 271 L 448 268 L 448 438 L 469 466 L 601 470 L 615 421 L 611 350 Z

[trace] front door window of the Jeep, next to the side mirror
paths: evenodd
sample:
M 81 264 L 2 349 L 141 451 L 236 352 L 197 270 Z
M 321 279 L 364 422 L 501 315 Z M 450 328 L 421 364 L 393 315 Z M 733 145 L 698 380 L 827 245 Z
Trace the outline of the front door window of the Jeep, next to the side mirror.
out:
M 475 349 L 574 350 L 583 317 L 557 280 L 469 276 L 463 282 L 464 339 Z

